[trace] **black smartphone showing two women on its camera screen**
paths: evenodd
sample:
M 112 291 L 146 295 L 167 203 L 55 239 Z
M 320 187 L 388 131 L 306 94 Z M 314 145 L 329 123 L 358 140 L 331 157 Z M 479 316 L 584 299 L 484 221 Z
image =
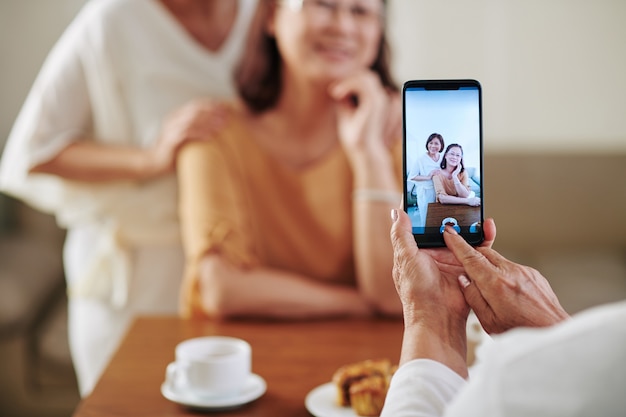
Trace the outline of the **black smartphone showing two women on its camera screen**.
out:
M 476 80 L 411 80 L 402 88 L 404 210 L 419 247 L 445 246 L 451 225 L 483 234 L 482 88 Z

